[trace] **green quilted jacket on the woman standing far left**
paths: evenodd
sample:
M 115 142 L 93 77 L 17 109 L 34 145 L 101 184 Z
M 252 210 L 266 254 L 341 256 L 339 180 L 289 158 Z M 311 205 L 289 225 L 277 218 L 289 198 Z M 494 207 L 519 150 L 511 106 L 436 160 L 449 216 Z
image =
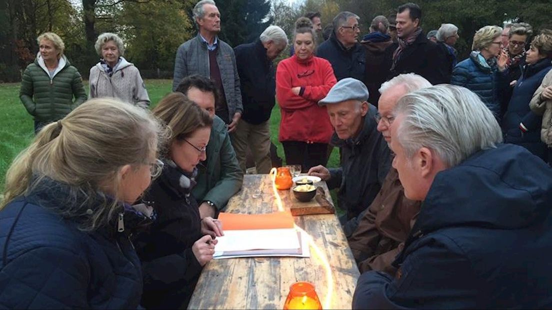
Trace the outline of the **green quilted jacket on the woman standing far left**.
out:
M 39 52 L 23 72 L 19 99 L 35 121 L 51 122 L 65 117 L 87 97 L 81 74 L 65 55 L 60 58 L 54 77 L 50 78 Z

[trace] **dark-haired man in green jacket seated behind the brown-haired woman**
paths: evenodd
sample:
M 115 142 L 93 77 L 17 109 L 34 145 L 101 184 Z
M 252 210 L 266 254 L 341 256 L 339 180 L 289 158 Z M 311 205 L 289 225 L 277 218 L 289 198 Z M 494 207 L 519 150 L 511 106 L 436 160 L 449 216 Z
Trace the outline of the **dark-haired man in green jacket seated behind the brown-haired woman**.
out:
M 176 91 L 185 94 L 213 117 L 213 129 L 205 151 L 207 159 L 198 165 L 197 185 L 192 193 L 200 202 L 201 218 L 215 217 L 240 190 L 243 181 L 226 123 L 215 115 L 215 101 L 220 100 L 218 89 L 209 78 L 195 74 L 182 79 Z

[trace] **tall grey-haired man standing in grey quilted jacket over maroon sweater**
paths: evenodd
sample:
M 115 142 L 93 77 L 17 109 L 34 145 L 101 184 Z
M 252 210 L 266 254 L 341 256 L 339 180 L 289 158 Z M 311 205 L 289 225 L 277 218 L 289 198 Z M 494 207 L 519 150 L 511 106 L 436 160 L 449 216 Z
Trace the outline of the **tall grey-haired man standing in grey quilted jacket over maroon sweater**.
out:
M 195 5 L 193 14 L 198 35 L 178 47 L 173 91 L 184 77 L 192 74 L 211 78 L 221 94 L 215 113 L 228 124 L 229 132 L 235 131 L 243 112 L 240 77 L 232 47 L 217 37 L 219 9 L 213 0 L 201 0 Z

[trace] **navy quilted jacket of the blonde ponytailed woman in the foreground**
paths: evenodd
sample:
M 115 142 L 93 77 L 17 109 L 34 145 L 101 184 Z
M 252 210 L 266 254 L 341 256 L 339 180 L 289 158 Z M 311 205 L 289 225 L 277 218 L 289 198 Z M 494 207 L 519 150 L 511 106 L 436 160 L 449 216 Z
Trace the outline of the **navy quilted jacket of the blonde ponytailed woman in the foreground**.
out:
M 50 182 L 0 212 L 0 308 L 136 309 L 142 274 L 128 229 L 116 232 L 113 223 L 79 230 L 51 210 L 73 207 L 58 185 Z

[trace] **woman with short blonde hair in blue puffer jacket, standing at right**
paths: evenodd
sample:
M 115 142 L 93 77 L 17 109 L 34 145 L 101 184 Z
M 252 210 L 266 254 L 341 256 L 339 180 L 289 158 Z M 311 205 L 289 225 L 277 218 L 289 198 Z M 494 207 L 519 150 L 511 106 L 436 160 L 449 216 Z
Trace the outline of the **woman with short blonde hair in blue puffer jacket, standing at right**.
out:
M 505 88 L 508 56 L 501 49 L 502 28 L 484 26 L 477 30 L 470 57 L 454 67 L 450 84 L 468 88 L 479 95 L 500 123 L 502 115 L 501 92 Z M 507 83 L 506 83 L 507 84 Z

